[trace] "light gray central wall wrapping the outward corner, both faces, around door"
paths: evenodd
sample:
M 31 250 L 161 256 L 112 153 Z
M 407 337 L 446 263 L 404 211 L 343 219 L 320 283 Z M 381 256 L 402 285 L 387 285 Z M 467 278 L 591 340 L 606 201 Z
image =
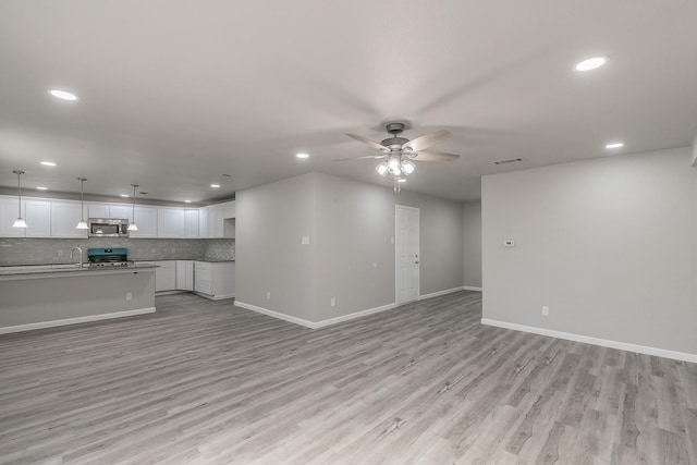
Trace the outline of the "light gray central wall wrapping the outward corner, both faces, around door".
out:
M 420 209 L 421 295 L 462 287 L 461 204 L 309 173 L 236 194 L 237 301 L 309 322 L 394 304 L 396 204 Z

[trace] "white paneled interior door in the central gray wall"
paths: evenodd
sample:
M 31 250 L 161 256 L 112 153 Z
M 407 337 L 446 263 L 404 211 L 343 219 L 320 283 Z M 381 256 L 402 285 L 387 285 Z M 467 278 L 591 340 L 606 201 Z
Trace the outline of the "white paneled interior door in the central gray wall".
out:
M 405 304 L 418 298 L 419 252 L 418 208 L 395 207 L 396 303 Z

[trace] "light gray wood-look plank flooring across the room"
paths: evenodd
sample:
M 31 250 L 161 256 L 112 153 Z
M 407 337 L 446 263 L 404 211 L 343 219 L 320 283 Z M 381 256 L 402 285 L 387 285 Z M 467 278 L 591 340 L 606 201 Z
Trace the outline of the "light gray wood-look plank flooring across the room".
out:
M 697 365 L 481 326 L 309 330 L 191 294 L 0 335 L 0 463 L 697 464 Z

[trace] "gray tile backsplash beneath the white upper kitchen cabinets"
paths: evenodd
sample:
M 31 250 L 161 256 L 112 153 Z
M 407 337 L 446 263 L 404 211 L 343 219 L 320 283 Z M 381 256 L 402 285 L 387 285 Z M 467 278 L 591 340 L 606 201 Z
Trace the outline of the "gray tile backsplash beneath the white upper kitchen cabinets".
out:
M 126 247 L 131 260 L 234 260 L 234 238 L 0 238 L 2 265 L 70 264 L 70 252 Z

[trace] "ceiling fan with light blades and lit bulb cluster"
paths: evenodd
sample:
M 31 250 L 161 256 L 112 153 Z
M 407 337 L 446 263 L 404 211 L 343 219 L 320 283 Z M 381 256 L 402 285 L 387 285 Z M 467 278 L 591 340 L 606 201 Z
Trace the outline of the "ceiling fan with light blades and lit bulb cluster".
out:
M 387 131 L 392 135 L 392 137 L 388 137 L 379 144 L 359 136 L 358 134 L 346 134 L 348 137 L 379 150 L 380 154 L 368 155 L 365 157 L 342 158 L 334 161 L 360 160 L 367 158 L 372 158 L 375 160 L 383 159 L 383 161 L 376 167 L 376 170 L 382 178 L 388 174 L 392 174 L 394 176 L 394 191 L 400 192 L 399 182 L 403 179 L 402 176 L 408 176 L 416 169 L 414 161 L 454 161 L 460 158 L 458 155 L 454 154 L 425 150 L 439 140 L 450 137 L 452 134 L 449 131 L 441 130 L 417 137 L 414 140 L 409 140 L 404 137 L 400 137 L 404 127 L 404 123 L 388 123 Z

